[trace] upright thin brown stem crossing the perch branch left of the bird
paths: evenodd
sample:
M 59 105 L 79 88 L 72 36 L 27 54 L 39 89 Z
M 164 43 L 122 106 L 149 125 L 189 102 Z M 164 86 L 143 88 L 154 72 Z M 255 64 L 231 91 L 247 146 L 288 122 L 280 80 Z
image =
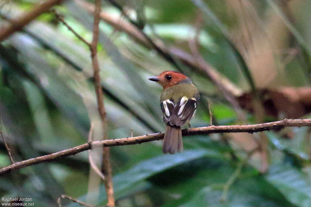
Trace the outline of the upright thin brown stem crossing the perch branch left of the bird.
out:
M 108 139 L 107 133 L 107 120 L 106 120 L 106 110 L 104 106 L 103 100 L 103 91 L 101 89 L 100 83 L 100 75 L 99 75 L 99 64 L 97 60 L 97 43 L 98 43 L 98 36 L 99 36 L 99 21 L 100 21 L 100 0 L 95 0 L 95 11 L 94 11 L 94 25 L 93 25 L 93 40 L 91 44 L 91 59 L 92 59 L 92 68 L 93 68 L 93 77 L 94 77 L 94 84 L 95 84 L 95 92 L 97 98 L 97 107 L 98 112 L 100 114 L 100 118 L 102 121 L 102 127 L 104 131 L 104 140 Z M 110 163 L 110 149 L 109 147 L 103 148 L 103 161 L 102 161 L 102 172 L 104 174 L 104 184 L 107 194 L 107 206 L 114 207 L 115 200 L 114 200 L 114 190 L 113 190 L 113 182 L 112 182 L 112 168 Z

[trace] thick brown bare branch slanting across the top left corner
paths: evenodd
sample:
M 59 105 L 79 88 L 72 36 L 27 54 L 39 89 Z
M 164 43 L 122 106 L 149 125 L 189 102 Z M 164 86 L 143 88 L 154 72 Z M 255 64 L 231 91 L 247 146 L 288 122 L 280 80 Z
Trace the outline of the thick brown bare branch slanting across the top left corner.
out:
M 54 5 L 60 4 L 63 0 L 49 0 L 43 3 L 37 4 L 31 11 L 26 14 L 21 14 L 13 20 L 10 20 L 10 25 L 0 30 L 0 42 L 9 37 L 14 32 L 21 30 L 32 20 L 49 11 Z

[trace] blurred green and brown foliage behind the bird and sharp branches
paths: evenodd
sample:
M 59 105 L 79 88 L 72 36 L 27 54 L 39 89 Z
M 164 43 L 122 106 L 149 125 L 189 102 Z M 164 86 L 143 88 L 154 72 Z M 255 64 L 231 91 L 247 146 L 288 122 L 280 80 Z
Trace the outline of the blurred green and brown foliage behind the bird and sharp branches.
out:
M 2 0 L 2 29 L 39 2 Z M 192 127 L 210 125 L 208 102 L 213 125 L 311 117 L 309 0 L 101 3 L 109 139 L 165 131 L 162 87 L 148 81 L 165 70 L 186 74 L 200 92 Z M 93 1 L 53 9 L 91 42 Z M 0 124 L 15 162 L 86 143 L 91 122 L 93 140 L 101 138 L 89 48 L 54 12 L 2 41 L 0 66 Z M 111 147 L 116 204 L 311 206 L 310 140 L 309 127 L 292 127 L 183 137 L 185 149 L 175 155 L 162 154 L 162 141 Z M 0 139 L 0 167 L 10 164 Z M 58 206 L 62 194 L 107 203 L 87 151 L 0 178 L 1 196 L 31 197 L 35 206 Z

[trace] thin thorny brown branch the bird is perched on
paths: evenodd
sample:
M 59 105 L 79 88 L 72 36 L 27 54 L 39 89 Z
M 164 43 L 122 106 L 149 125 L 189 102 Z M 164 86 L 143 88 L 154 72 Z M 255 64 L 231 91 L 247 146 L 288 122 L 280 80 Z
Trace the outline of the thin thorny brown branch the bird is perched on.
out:
M 231 126 L 208 126 L 208 127 L 197 127 L 197 128 L 189 128 L 184 129 L 182 131 L 182 135 L 190 136 L 197 134 L 211 134 L 211 133 L 238 133 L 238 132 L 247 132 L 247 133 L 256 133 L 262 131 L 269 131 L 272 129 L 281 129 L 285 127 L 304 127 L 311 126 L 311 119 L 284 119 L 281 121 L 263 123 L 263 124 L 253 124 L 253 125 L 231 125 Z M 155 140 L 161 140 L 164 137 L 164 133 L 155 133 L 149 135 L 143 135 L 138 137 L 128 137 L 121 139 L 110 139 L 110 140 L 102 140 L 95 141 L 91 143 L 85 143 L 83 145 L 79 145 L 76 147 L 72 147 L 67 150 L 63 150 L 60 152 L 56 152 L 49 155 L 44 155 L 41 157 L 32 158 L 29 160 L 23 160 L 20 162 L 16 162 L 7 167 L 0 169 L 0 176 L 9 173 L 13 170 L 18 170 L 21 168 L 25 168 L 27 166 L 43 163 L 43 162 L 53 162 L 60 158 L 75 155 L 79 152 L 86 151 L 91 149 L 92 147 L 111 147 L 111 146 L 120 146 L 120 145 L 133 145 L 140 144 L 143 142 L 151 142 Z M 172 155 L 174 156 L 174 155 Z

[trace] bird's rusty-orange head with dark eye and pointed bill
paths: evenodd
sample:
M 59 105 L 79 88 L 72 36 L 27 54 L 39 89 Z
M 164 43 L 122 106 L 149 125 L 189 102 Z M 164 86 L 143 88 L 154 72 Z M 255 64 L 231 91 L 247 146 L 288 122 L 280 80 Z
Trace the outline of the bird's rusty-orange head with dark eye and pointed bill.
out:
M 151 77 L 149 80 L 159 83 L 163 90 L 180 82 L 191 83 L 187 76 L 175 71 L 164 71 L 158 76 Z

